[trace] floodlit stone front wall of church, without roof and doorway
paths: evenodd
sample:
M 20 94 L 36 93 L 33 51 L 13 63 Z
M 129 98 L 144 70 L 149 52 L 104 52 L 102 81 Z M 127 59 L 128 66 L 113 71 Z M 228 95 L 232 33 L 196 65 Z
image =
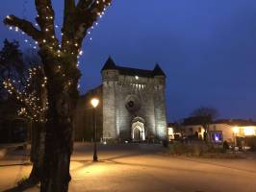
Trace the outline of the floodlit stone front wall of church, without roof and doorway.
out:
M 131 139 L 132 121 L 145 121 L 146 138 L 166 138 L 166 83 L 164 77 L 145 78 L 119 75 L 118 71 L 103 74 L 103 137 Z M 129 98 L 139 107 L 129 110 Z M 138 100 L 138 101 L 137 101 Z

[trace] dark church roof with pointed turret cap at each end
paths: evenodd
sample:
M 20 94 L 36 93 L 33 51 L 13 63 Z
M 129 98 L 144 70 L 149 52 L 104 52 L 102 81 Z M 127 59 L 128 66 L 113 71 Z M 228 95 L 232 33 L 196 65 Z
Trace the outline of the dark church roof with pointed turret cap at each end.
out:
M 115 61 L 109 57 L 109 59 L 104 64 L 101 71 L 115 69 L 118 70 L 121 75 L 129 75 L 129 76 L 140 76 L 140 77 L 153 77 L 153 76 L 165 76 L 165 72 L 156 64 L 154 70 L 146 70 L 146 69 L 138 69 L 138 68 L 130 68 L 124 66 L 118 66 L 115 64 Z

